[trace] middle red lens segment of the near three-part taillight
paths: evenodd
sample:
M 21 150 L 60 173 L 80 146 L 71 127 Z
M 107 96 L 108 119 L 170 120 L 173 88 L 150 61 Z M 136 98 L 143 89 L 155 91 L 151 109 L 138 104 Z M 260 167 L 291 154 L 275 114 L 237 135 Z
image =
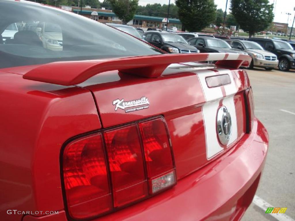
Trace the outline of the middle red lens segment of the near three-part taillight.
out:
M 114 193 L 114 207 L 148 195 L 137 125 L 104 133 Z

